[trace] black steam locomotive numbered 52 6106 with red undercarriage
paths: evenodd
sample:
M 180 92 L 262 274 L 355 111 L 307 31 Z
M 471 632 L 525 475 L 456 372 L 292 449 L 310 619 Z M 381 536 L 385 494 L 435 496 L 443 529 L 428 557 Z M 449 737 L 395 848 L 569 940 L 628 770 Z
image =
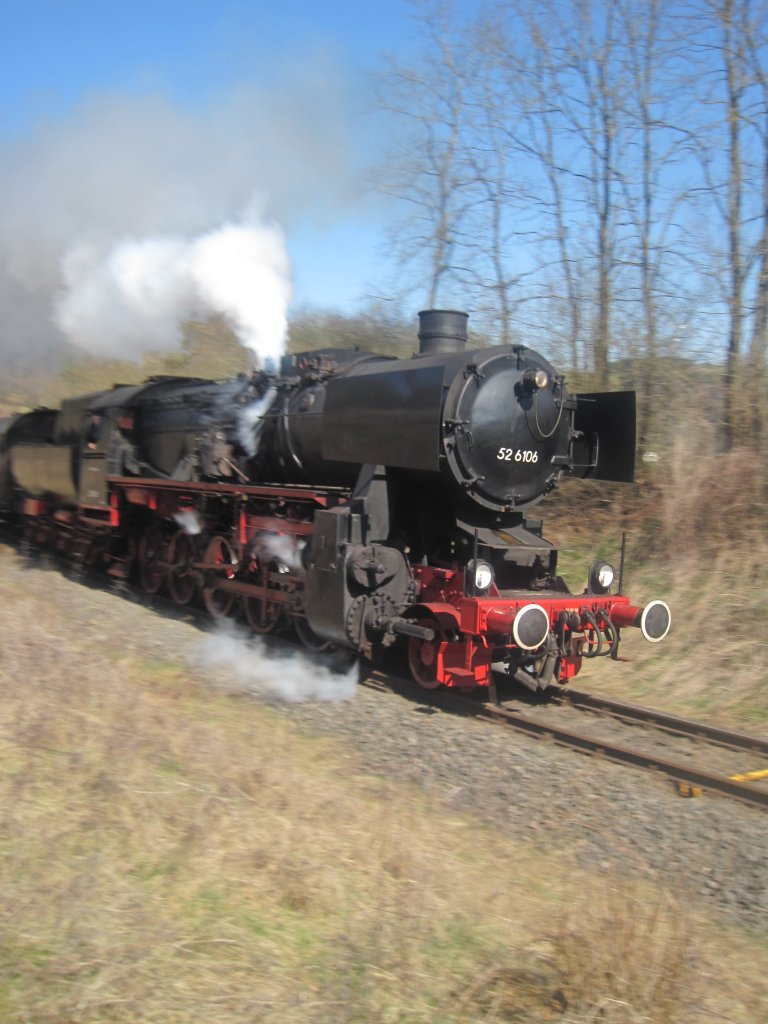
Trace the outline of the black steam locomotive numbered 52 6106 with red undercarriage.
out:
M 651 642 L 606 562 L 584 593 L 528 510 L 564 477 L 632 481 L 634 392 L 569 394 L 521 345 L 470 348 L 419 314 L 398 359 L 326 348 L 279 373 L 156 377 L 0 426 L 0 513 L 25 541 L 256 633 L 377 658 L 403 638 L 425 688 L 544 689 L 621 630 Z

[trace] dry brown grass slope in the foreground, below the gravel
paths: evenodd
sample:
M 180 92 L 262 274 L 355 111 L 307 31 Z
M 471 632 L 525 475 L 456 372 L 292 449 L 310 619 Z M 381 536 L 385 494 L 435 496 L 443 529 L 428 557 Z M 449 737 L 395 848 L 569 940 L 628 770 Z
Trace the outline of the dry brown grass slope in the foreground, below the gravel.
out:
M 577 1021 L 606 998 L 633 1024 L 675 1020 L 691 950 L 638 916 L 639 890 L 612 922 L 574 922 L 586 883 L 562 852 L 447 817 L 201 689 L 147 656 L 159 616 L 7 551 L 0 602 L 3 1022 Z M 633 977 L 658 973 L 654 949 L 679 976 L 616 987 L 633 946 Z M 746 949 L 699 950 L 716 967 L 697 1008 L 754 973 Z M 758 1019 L 754 998 L 726 1019 Z

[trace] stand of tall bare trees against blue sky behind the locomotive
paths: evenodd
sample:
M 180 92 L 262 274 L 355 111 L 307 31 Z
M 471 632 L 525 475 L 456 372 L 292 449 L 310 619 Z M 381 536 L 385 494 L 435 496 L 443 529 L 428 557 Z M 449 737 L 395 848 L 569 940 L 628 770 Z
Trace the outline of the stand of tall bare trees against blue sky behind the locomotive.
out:
M 431 303 L 461 288 L 499 340 L 560 339 L 597 386 L 630 356 L 643 443 L 664 357 L 699 344 L 723 360 L 725 443 L 759 442 L 768 0 L 490 3 L 470 32 L 418 0 L 429 58 L 391 69 L 398 257 L 427 266 Z

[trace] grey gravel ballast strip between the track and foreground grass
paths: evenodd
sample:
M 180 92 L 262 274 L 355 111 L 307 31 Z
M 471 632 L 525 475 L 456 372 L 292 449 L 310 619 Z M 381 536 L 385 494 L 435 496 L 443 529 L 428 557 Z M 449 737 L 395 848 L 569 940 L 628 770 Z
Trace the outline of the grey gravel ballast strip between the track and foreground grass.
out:
M 351 674 L 331 677 L 303 655 L 286 662 L 258 641 L 254 647 L 244 630 L 219 637 L 195 618 L 83 587 L 58 571 L 25 567 L 6 549 L 3 572 L 17 575 L 19 587 L 26 573 L 43 571 L 47 592 L 67 607 L 73 629 L 106 632 L 114 643 L 125 637 L 129 650 L 186 664 L 202 686 L 251 694 L 302 731 L 348 744 L 366 770 L 415 784 L 454 812 L 562 851 L 589 869 L 650 877 L 768 935 L 765 811 L 707 795 L 684 799 L 662 776 L 355 686 Z M 276 696 L 289 676 L 313 699 Z M 589 689 L 586 675 L 580 686 Z M 316 699 L 329 691 L 343 698 Z

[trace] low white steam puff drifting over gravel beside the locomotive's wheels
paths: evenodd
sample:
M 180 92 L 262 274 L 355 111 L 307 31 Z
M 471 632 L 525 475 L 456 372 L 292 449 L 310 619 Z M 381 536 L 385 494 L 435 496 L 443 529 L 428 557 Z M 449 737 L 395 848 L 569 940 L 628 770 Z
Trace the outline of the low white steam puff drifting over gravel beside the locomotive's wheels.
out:
M 357 685 L 357 666 L 339 673 L 301 653 L 279 656 L 266 651 L 259 637 L 246 638 L 229 622 L 204 637 L 194 663 L 213 672 L 226 693 L 272 696 L 290 703 L 350 700 Z

